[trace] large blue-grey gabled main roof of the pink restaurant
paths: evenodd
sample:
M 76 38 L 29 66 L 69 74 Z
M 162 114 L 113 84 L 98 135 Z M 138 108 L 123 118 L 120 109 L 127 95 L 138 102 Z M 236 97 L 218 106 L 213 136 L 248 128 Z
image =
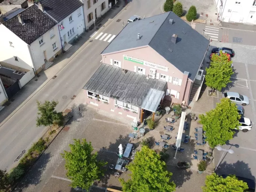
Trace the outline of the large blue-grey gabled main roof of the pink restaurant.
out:
M 173 19 L 172 25 L 170 19 Z M 138 33 L 142 36 L 139 40 Z M 171 42 L 173 34 L 178 35 L 176 44 Z M 188 71 L 189 78 L 194 80 L 209 43 L 209 40 L 170 11 L 129 23 L 101 54 L 150 46 L 181 72 Z

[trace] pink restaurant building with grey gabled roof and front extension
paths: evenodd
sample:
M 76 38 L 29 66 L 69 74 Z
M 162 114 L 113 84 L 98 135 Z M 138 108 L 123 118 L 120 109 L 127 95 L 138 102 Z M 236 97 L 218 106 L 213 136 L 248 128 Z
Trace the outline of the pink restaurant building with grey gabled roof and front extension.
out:
M 209 44 L 173 12 L 129 23 L 101 53 L 86 102 L 140 121 L 164 99 L 188 105 Z

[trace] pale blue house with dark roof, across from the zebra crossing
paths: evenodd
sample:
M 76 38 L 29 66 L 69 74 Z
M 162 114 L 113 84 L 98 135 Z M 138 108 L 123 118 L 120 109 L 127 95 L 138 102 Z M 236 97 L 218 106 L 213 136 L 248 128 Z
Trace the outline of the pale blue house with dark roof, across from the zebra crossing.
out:
M 36 4 L 58 23 L 64 51 L 85 31 L 83 3 L 79 0 L 41 0 Z

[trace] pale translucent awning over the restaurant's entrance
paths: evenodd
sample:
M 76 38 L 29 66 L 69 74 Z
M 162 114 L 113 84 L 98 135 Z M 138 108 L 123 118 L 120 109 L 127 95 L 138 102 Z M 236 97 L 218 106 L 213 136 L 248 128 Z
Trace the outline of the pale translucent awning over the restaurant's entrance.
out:
M 149 93 L 141 105 L 141 108 L 155 113 L 163 96 L 164 91 L 150 88 Z

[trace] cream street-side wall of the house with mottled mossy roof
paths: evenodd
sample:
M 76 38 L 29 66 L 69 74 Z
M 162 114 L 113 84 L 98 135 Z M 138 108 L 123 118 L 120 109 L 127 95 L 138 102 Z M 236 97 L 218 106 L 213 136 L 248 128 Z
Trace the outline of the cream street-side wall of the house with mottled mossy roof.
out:
M 46 51 L 46 60 L 51 59 L 58 51 L 61 50 L 61 42 L 58 25 L 56 24 L 54 29 L 54 36 L 50 36 L 50 30 L 36 39 L 30 44 L 31 54 L 34 60 L 35 71 L 38 70 L 44 64 L 44 51 Z M 39 40 L 43 37 L 43 44 L 39 44 Z M 53 43 L 56 42 L 57 49 L 53 50 Z

